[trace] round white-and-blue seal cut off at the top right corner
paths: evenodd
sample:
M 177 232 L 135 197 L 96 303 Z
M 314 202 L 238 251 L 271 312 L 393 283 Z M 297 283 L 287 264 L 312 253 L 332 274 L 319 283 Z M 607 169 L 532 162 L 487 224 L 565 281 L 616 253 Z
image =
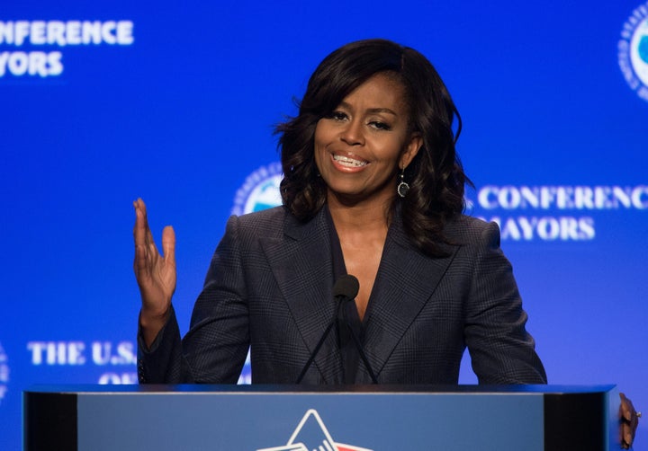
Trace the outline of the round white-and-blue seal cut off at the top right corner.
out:
M 648 2 L 638 6 L 624 23 L 617 49 L 626 83 L 648 102 Z

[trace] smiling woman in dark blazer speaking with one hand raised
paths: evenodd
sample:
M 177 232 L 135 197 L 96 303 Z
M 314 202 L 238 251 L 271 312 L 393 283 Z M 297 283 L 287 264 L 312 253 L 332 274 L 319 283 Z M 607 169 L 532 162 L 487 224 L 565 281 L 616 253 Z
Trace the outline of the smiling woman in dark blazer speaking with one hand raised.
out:
M 498 227 L 462 215 L 455 118 L 414 49 L 363 40 L 326 57 L 277 128 L 284 205 L 229 218 L 183 340 L 174 232 L 163 258 L 138 199 L 140 381 L 235 383 L 249 348 L 253 383 L 456 384 L 467 347 L 482 384 L 544 384 Z M 345 274 L 350 326 L 327 334 Z

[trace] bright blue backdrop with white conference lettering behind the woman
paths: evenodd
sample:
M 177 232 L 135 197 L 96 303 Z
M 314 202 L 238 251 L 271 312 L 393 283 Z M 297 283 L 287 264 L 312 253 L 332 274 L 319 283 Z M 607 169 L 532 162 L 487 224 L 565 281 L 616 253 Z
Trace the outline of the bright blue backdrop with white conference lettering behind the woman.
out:
M 0 8 L 6 449 L 25 387 L 135 382 L 132 200 L 158 240 L 175 226 L 185 332 L 229 214 L 275 202 L 273 126 L 371 37 L 453 94 L 471 212 L 500 222 L 550 383 L 648 409 L 648 3 L 25 0 Z

